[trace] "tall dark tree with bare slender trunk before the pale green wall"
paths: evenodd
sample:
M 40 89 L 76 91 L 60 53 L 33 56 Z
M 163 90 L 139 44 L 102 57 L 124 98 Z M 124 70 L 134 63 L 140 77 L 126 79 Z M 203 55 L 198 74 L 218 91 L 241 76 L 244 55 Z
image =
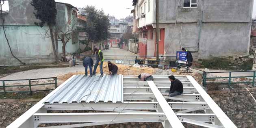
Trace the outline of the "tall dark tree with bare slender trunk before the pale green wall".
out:
M 56 46 L 54 44 L 54 26 L 56 25 L 56 2 L 54 0 L 32 0 L 30 4 L 37 11 L 35 17 L 41 22 L 35 22 L 35 25 L 40 26 L 41 28 L 44 25 L 49 26 L 50 37 L 52 41 L 52 49 L 54 53 L 54 58 L 56 63 L 59 63 L 59 57 L 57 55 Z

